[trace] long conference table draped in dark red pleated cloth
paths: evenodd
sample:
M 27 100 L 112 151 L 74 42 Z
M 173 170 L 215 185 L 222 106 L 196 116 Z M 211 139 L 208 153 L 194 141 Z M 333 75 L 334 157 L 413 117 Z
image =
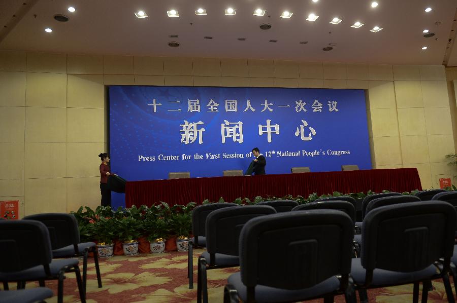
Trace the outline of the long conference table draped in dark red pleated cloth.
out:
M 422 190 L 416 168 L 147 180 L 126 183 L 125 206 L 151 206 L 160 202 L 201 204 L 205 199 L 217 202 L 221 197 L 225 202 L 233 202 L 239 197 L 253 200 L 256 196 L 300 195 L 307 198 L 312 193 L 348 194 L 369 190 L 401 193 L 416 189 Z

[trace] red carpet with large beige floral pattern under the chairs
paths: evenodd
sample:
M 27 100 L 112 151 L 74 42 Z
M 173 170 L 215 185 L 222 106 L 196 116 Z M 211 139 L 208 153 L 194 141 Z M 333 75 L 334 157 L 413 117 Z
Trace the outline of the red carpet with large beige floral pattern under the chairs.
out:
M 197 258 L 203 252 L 194 251 L 194 289 L 188 288 L 186 278 L 187 252 L 113 256 L 100 259 L 103 288 L 97 288 L 93 259 L 90 259 L 87 280 L 87 302 L 195 302 L 197 301 Z M 80 261 L 82 270 L 82 260 Z M 222 302 L 223 287 L 227 277 L 238 268 L 208 271 L 210 302 Z M 78 288 L 73 273 L 64 281 L 64 302 L 78 302 Z M 11 285 L 12 286 L 12 285 Z M 27 283 L 27 288 L 38 283 Z M 57 294 L 57 281 L 47 281 L 46 286 Z M 412 302 L 412 285 L 369 290 L 370 302 Z M 323 300 L 313 300 L 312 303 Z M 430 303 L 447 302 L 443 284 L 433 282 L 429 292 Z M 47 300 L 57 302 L 57 296 Z M 335 302 L 344 302 L 338 296 Z

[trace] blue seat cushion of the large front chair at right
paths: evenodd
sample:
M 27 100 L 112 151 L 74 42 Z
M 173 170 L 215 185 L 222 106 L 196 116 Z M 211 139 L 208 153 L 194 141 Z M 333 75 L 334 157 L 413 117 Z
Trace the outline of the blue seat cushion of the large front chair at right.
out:
M 425 280 L 433 277 L 437 273 L 437 268 L 432 264 L 431 266 L 417 272 L 400 273 L 393 271 L 386 271 L 375 269 L 373 271 L 373 281 L 371 286 L 388 286 L 406 284 L 413 281 Z M 351 276 L 355 284 L 364 284 L 366 270 L 362 267 L 360 258 L 352 258 L 351 263 Z

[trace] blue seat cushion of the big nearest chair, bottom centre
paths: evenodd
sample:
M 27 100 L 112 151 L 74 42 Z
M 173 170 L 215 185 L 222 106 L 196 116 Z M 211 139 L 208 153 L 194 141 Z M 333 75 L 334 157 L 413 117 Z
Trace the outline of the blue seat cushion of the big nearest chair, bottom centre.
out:
M 238 291 L 239 297 L 247 300 L 247 288 L 241 282 L 241 273 L 236 273 L 228 277 L 228 284 L 232 284 Z M 301 301 L 308 298 L 320 297 L 323 294 L 336 291 L 340 288 L 340 281 L 336 277 L 331 277 L 327 280 L 316 284 L 313 287 L 287 290 L 264 285 L 255 286 L 255 300 L 257 302 L 289 302 Z

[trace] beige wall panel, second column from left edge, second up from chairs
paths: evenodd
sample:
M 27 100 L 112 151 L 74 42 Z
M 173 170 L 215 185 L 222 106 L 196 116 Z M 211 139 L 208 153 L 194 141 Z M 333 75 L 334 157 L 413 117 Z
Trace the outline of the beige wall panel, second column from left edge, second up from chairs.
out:
M 66 176 L 65 142 L 25 143 L 26 179 L 57 178 Z

